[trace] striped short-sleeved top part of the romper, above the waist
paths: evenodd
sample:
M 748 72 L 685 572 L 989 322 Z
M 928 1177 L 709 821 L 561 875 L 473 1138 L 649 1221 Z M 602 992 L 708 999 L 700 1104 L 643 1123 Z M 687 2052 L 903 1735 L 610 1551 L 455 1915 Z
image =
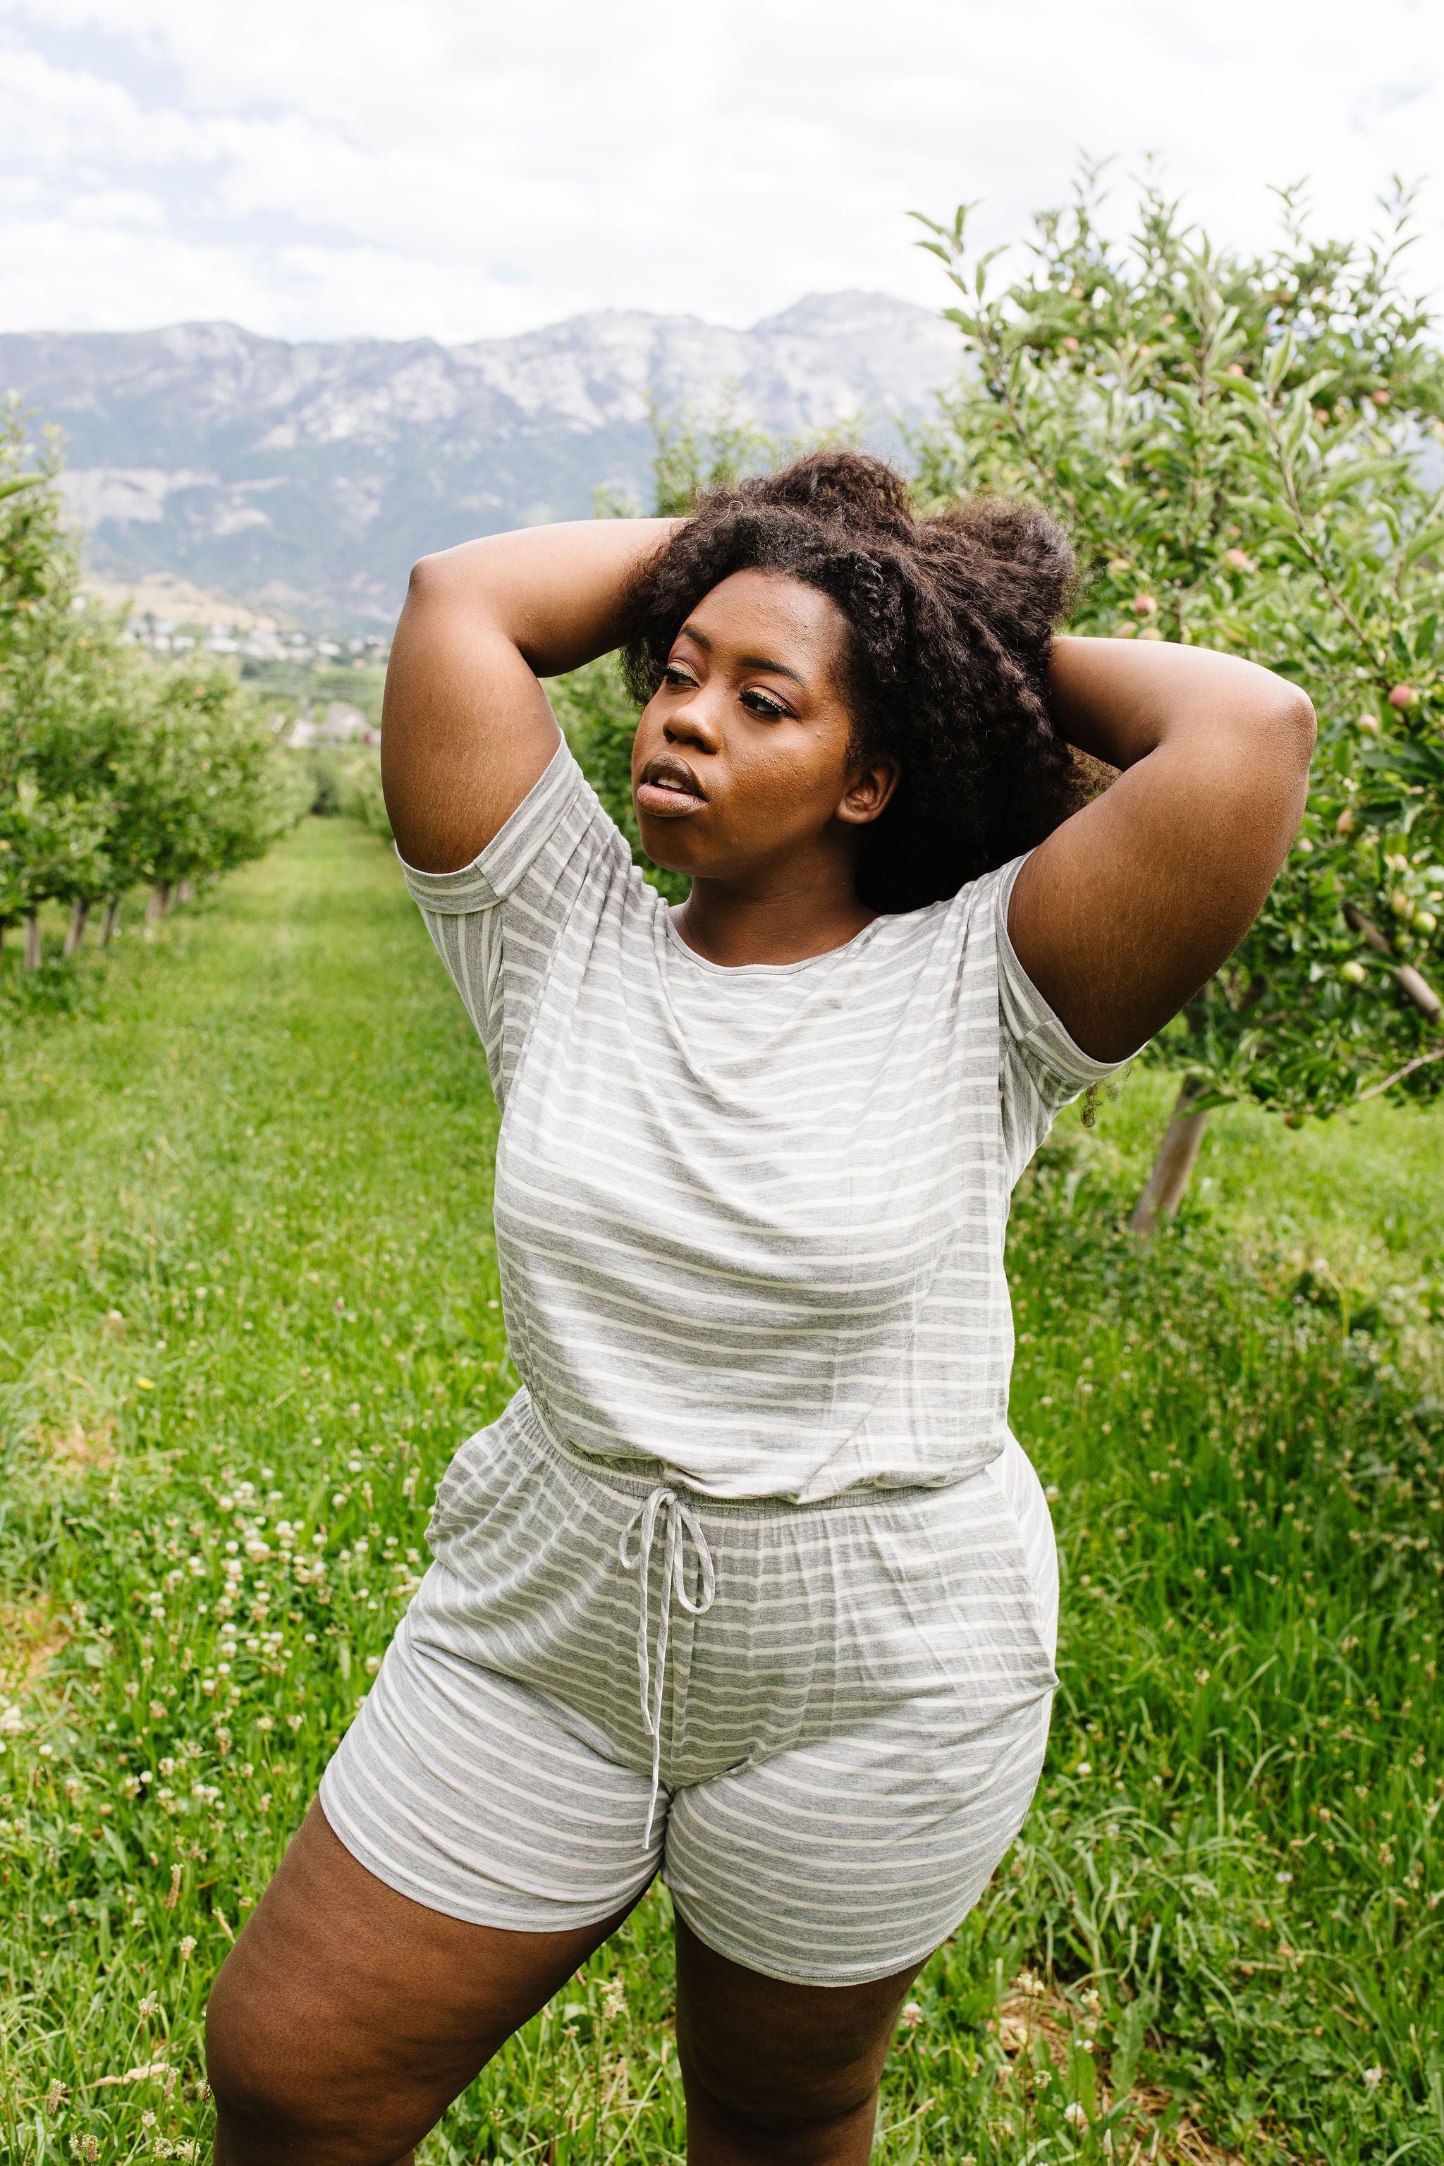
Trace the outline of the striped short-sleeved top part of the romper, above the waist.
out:
M 1002 1449 L 1009 1193 L 1108 1074 L 1013 953 L 1020 862 L 725 970 L 563 745 L 476 864 L 407 871 L 502 1105 L 502 1306 L 552 1436 L 799 1503 Z

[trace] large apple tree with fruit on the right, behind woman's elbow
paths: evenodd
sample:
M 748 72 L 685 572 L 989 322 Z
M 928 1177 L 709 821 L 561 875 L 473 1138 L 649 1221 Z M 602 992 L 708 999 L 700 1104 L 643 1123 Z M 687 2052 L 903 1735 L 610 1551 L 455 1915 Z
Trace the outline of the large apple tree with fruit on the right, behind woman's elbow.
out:
M 1085 173 L 998 288 L 968 206 L 922 221 L 963 373 L 916 440 L 920 498 L 1033 496 L 1078 552 L 1076 630 L 1247 654 L 1321 721 L 1258 925 L 1154 1048 L 1182 1087 L 1134 1213 L 1152 1230 L 1215 1105 L 1299 1122 L 1444 1087 L 1444 366 L 1401 284 L 1403 193 L 1362 249 L 1310 238 L 1284 193 L 1260 258 L 1152 186 L 1124 243 L 1098 204 Z

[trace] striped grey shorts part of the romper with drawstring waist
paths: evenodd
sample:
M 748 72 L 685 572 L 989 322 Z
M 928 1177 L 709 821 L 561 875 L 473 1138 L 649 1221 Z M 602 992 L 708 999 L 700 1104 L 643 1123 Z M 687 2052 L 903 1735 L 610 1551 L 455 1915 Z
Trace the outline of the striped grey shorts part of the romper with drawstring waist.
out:
M 946 1941 L 1022 1826 L 1056 1555 L 1013 1438 L 948 1488 L 723 1501 L 520 1393 L 429 1540 L 320 1806 L 431 1910 L 559 1932 L 660 1869 L 708 1947 L 844 1986 Z

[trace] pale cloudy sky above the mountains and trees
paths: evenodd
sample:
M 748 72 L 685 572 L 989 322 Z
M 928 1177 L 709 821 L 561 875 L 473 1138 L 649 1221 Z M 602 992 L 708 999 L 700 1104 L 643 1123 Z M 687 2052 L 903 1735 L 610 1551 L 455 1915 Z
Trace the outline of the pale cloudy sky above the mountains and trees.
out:
M 1444 0 L 0 0 L 0 329 L 946 305 L 907 212 L 1018 243 L 1085 152 L 1240 247 L 1422 180 L 1444 290 Z

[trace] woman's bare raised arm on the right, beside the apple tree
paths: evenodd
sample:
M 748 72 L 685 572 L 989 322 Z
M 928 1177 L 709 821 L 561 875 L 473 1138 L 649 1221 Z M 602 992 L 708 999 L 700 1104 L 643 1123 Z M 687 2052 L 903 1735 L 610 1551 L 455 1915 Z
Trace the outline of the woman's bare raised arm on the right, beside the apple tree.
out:
M 1232 955 L 1288 853 L 1314 708 L 1256 663 L 1059 639 L 1052 717 L 1124 773 L 1028 858 L 1018 960 L 1078 1046 L 1124 1059 Z

